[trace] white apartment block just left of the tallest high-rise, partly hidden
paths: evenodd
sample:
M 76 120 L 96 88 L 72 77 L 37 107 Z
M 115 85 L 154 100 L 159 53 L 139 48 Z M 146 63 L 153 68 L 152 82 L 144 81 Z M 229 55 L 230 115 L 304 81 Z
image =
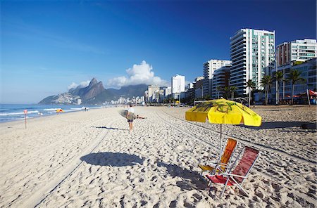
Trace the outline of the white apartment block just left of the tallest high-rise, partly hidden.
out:
M 231 65 L 230 60 L 217 60 L 211 59 L 206 61 L 204 64 L 204 84 L 203 84 L 203 94 L 204 96 L 212 96 L 212 79 L 213 72 L 220 69 L 221 67 Z

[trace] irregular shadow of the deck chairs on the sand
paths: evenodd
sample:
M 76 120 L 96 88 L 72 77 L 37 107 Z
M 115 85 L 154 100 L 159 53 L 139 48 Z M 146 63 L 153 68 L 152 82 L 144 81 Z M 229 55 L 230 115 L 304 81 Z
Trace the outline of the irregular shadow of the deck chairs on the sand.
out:
M 181 190 L 206 190 L 207 188 L 207 182 L 196 171 L 184 169 L 176 164 L 166 164 L 165 162 L 157 162 L 157 166 L 166 168 L 167 174 L 173 178 L 176 176 L 182 178 L 182 181 L 176 182 L 176 186 Z

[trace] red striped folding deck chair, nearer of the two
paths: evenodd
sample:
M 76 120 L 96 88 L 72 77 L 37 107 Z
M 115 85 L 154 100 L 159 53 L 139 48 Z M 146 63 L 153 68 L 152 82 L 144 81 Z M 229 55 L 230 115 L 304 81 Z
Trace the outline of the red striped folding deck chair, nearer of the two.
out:
M 243 155 L 242 155 L 243 152 Z M 224 184 L 223 191 L 221 192 L 220 197 L 223 196 L 223 193 L 225 193 L 225 188 L 227 186 L 237 186 L 240 188 L 240 190 L 243 191 L 245 195 L 247 195 L 247 192 L 242 188 L 242 183 L 244 180 L 247 178 L 249 172 L 251 171 L 252 167 L 254 166 L 254 163 L 260 156 L 259 150 L 255 150 L 254 148 L 250 147 L 245 147 L 244 151 L 242 150 L 239 154 L 238 158 L 240 155 L 242 155 L 239 163 L 231 171 L 231 168 L 228 170 L 228 173 L 220 173 L 220 174 L 213 174 L 213 175 L 206 175 L 206 177 L 209 179 L 209 184 L 210 184 L 210 189 L 211 191 L 211 186 L 212 183 L 222 183 Z M 232 167 L 235 166 L 235 162 L 232 164 Z

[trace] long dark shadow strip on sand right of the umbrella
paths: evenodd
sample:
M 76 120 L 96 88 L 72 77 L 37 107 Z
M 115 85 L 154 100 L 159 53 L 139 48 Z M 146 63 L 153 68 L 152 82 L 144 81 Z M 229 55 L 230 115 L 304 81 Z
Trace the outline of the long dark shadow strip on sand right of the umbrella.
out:
M 302 129 L 316 129 L 316 123 L 309 122 L 262 122 L 259 127 L 255 126 L 244 126 L 247 129 L 281 129 L 281 128 L 291 128 L 291 127 L 301 127 Z

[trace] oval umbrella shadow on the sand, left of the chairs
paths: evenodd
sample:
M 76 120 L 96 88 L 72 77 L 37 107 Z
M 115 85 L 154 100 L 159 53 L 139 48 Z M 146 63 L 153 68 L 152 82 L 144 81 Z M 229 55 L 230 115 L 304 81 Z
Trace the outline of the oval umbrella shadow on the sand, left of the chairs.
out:
M 129 155 L 121 152 L 97 152 L 90 153 L 80 157 L 80 160 L 85 161 L 89 164 L 101 165 L 101 166 L 112 166 L 112 167 L 123 167 L 132 166 L 135 164 L 143 164 L 144 159 L 137 155 Z

